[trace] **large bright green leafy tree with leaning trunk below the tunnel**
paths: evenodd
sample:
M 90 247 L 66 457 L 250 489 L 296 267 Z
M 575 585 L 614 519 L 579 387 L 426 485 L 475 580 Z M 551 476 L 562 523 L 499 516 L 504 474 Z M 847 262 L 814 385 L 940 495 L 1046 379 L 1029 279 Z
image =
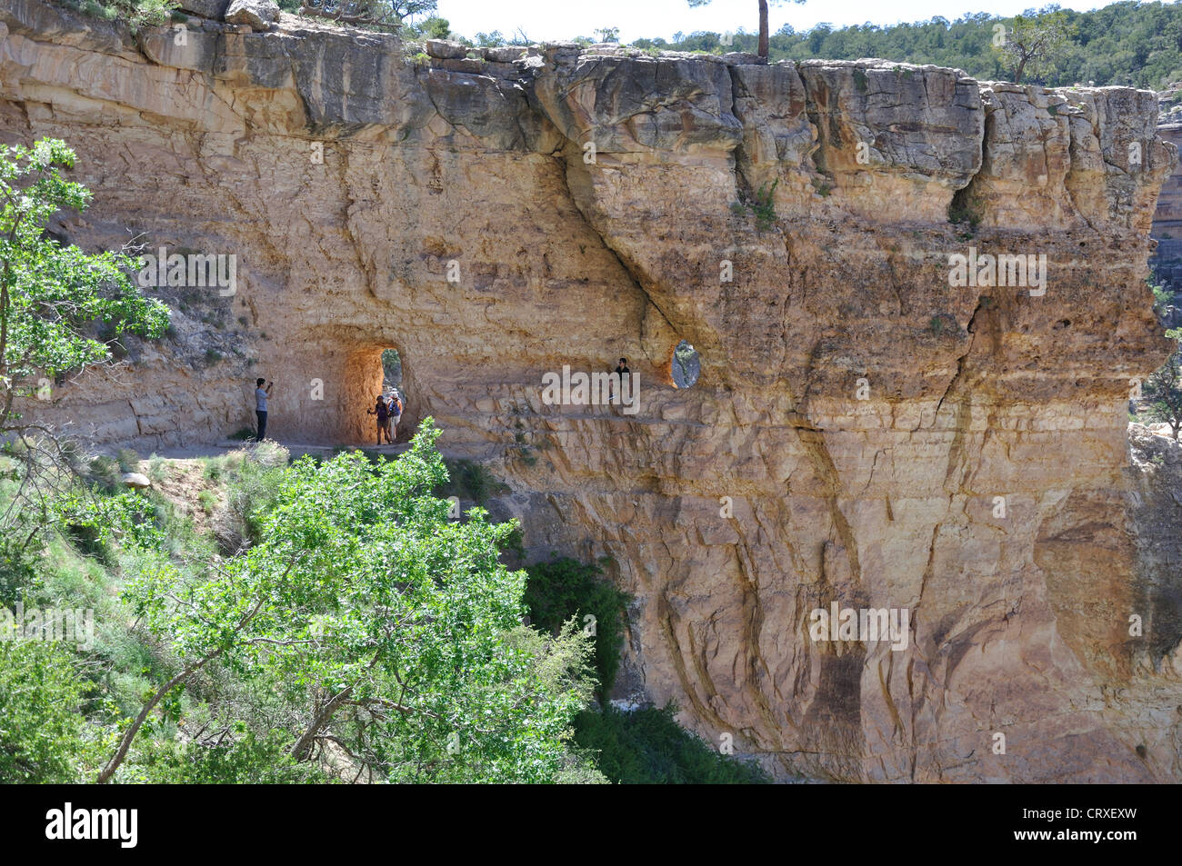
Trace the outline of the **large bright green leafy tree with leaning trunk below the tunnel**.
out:
M 126 599 L 180 670 L 98 781 L 210 665 L 303 696 L 296 761 L 331 743 L 391 781 L 544 782 L 582 766 L 569 740 L 593 689 L 590 639 L 573 621 L 557 636 L 522 625 L 526 575 L 499 561 L 515 523 L 480 508 L 448 520 L 431 495 L 447 481 L 437 436 L 428 418 L 397 461 L 298 461 L 258 543 L 208 580 L 164 556 L 143 569 Z

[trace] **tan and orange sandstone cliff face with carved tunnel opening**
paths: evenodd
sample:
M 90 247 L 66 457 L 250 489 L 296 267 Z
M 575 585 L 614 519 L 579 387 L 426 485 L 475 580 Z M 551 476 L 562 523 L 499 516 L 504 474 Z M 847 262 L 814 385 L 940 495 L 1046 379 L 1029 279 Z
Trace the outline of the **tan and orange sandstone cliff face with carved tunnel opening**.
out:
M 1176 504 L 1125 434 L 1168 349 L 1151 93 L 423 61 L 287 15 L 137 44 L 35 0 L 0 0 L 0 37 L 4 138 L 65 138 L 95 190 L 57 230 L 238 261 L 234 295 L 169 289 L 173 340 L 33 411 L 208 443 L 265 375 L 275 437 L 357 442 L 394 346 L 407 419 L 493 468 L 532 552 L 613 558 L 621 688 L 710 741 L 782 776 L 1182 779 Z M 957 254 L 1045 256 L 1045 292 L 1037 267 L 950 285 Z M 682 339 L 702 372 L 678 391 Z M 544 373 L 621 356 L 635 415 L 543 402 Z M 833 601 L 907 608 L 907 646 L 813 640 Z

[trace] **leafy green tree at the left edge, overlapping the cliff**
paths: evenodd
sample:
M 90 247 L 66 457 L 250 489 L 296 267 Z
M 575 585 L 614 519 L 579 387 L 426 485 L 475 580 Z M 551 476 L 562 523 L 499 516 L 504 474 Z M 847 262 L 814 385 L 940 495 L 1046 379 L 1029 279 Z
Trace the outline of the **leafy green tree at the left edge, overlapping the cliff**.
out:
M 0 438 L 50 435 L 22 419 L 19 401 L 48 396 L 61 373 L 110 362 L 125 333 L 156 338 L 168 327 L 168 307 L 128 276 L 138 269 L 134 258 L 84 253 L 46 233 L 54 211 L 90 201 L 85 187 L 61 176 L 73 163 L 53 138 L 0 145 Z M 105 341 L 92 336 L 96 324 Z

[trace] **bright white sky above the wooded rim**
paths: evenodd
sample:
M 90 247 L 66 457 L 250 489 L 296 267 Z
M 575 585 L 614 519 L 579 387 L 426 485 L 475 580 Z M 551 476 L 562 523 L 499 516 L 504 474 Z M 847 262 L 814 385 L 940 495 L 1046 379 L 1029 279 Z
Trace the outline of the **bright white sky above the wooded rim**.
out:
M 771 27 L 774 33 L 785 24 L 808 30 L 820 21 L 834 27 L 870 21 L 877 25 L 923 21 L 935 15 L 955 20 L 966 12 L 1013 15 L 1050 0 L 907 0 L 885 4 L 882 0 L 807 0 L 772 4 Z M 1111 1 L 1111 0 L 1110 0 Z M 1060 6 L 1079 12 L 1106 6 L 1108 2 L 1076 0 Z M 578 35 L 592 37 L 597 27 L 619 27 L 621 41 L 644 37 L 669 39 L 674 33 L 694 31 L 748 33 L 759 27 L 756 0 L 713 0 L 691 9 L 686 0 L 439 0 L 439 14 L 452 30 L 467 37 L 478 32 L 501 31 L 512 35 L 520 27 L 533 41 L 563 41 Z

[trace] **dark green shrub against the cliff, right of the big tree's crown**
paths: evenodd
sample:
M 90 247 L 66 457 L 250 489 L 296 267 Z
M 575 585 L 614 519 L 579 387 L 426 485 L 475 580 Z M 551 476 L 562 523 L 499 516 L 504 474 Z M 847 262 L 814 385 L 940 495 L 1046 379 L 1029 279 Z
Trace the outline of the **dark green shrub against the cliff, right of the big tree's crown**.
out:
M 583 565 L 567 556 L 537 562 L 526 571 L 525 604 L 533 625 L 557 632 L 572 617 L 585 631 L 593 624 L 598 694 L 606 701 L 624 646 L 622 614 L 630 600 L 628 593 L 603 578 L 600 565 Z M 589 616 L 593 619 L 587 620 Z

